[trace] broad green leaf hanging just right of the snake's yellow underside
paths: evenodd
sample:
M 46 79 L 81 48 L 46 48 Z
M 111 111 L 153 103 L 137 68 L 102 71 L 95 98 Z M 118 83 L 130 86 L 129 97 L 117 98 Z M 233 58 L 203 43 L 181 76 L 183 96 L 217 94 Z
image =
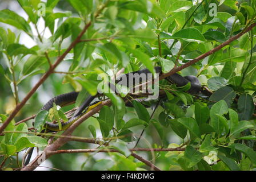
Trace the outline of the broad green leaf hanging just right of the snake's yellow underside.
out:
M 107 127 L 109 127 L 109 131 L 113 129 L 114 126 L 114 113 L 110 109 L 109 106 L 103 106 L 101 108 L 101 111 L 99 111 L 99 117 L 98 119 L 101 119 L 107 124 Z

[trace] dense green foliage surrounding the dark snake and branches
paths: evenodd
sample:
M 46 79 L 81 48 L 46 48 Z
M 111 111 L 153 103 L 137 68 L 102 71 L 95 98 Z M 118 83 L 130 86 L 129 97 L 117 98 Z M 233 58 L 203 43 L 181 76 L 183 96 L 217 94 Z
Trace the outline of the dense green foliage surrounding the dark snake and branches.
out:
M 0 11 L 0 126 L 19 111 L 0 132 L 1 169 L 23 167 L 29 147 L 43 151 L 58 142 L 62 132 L 36 132 L 46 120 L 67 121 L 66 111 L 97 93 L 98 75 L 113 77 L 122 68 L 124 73 L 153 72 L 157 65 L 168 73 L 209 51 L 210 56 L 178 72 L 197 76 L 201 93 L 191 95 L 186 92 L 190 84 L 178 88 L 166 80 L 159 81 L 164 97 L 148 102 L 126 92 L 106 93 L 100 99 L 110 98 L 112 105 L 79 125 L 72 135 L 78 138 L 60 145 L 62 150 L 94 148 L 94 153 L 49 155 L 47 165 L 69 170 L 256 169 L 256 28 L 243 33 L 255 26 L 255 0 L 15 2 L 26 16 Z M 22 44 L 23 37 L 35 46 Z M 23 103 L 35 83 L 39 89 Z M 51 97 L 71 90 L 80 92 L 74 105 L 40 111 Z M 133 100 L 133 107 L 125 105 L 125 98 Z M 27 117 L 35 118 L 35 127 L 29 119 L 15 124 Z M 85 137 L 95 144 L 81 142 Z M 140 152 L 131 151 L 135 144 L 143 147 Z

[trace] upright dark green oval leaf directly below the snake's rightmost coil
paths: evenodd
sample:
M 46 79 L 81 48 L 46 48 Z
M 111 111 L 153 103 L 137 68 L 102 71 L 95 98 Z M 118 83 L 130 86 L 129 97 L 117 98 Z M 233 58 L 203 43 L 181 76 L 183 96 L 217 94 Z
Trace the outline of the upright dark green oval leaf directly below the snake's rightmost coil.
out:
M 199 102 L 195 102 L 195 120 L 200 126 L 202 123 L 206 123 L 210 118 L 210 109 L 207 106 L 201 105 Z

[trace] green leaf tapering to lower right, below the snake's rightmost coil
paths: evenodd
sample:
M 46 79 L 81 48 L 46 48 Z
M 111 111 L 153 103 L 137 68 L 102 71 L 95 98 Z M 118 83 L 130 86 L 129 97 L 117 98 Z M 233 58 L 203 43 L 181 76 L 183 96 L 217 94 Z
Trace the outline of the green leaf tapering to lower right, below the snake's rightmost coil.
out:
M 191 134 L 201 139 L 201 132 L 197 125 L 197 122 L 193 118 L 179 118 L 178 122 L 186 127 L 187 130 L 191 132 Z

